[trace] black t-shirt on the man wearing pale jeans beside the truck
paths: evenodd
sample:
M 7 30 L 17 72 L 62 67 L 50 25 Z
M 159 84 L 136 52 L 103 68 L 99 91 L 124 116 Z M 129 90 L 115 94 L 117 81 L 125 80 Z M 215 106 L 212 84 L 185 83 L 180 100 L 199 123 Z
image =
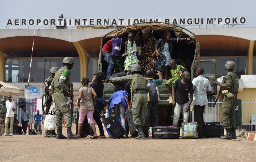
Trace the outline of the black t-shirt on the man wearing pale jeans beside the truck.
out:
M 193 84 L 190 81 L 187 84 L 182 84 L 181 79 L 178 79 L 175 82 L 174 90 L 176 91 L 176 103 L 184 104 L 189 101 L 188 94 L 193 93 Z

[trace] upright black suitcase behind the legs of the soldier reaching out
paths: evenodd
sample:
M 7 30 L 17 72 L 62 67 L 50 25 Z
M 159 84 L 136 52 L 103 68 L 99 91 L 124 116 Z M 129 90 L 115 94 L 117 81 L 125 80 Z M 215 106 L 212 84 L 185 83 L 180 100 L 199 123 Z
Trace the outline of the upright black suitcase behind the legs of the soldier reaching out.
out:
M 129 108 L 126 112 L 125 115 L 127 117 L 127 122 L 128 122 L 128 127 L 129 127 L 129 131 L 131 136 L 137 137 L 138 136 L 138 131 L 134 125 L 134 122 L 132 120 L 132 109 Z M 145 134 L 146 137 L 148 137 L 150 129 L 149 129 L 149 123 L 146 119 L 145 121 L 145 125 L 143 126 L 143 132 Z

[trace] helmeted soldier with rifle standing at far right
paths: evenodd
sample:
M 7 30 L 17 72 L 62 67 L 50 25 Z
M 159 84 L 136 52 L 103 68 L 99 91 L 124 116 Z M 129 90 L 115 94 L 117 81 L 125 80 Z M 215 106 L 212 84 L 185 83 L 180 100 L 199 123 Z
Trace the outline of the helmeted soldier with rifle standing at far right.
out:
M 236 126 L 235 126 L 235 103 L 237 98 L 237 92 L 239 88 L 238 77 L 233 72 L 235 69 L 235 63 L 233 61 L 228 61 L 225 64 L 225 68 L 228 73 L 222 79 L 222 83 L 214 81 L 214 85 L 221 87 L 221 92 L 223 90 L 228 90 L 228 92 L 233 94 L 233 97 L 228 98 L 226 95 L 222 101 L 222 122 L 227 133 L 221 136 L 221 139 L 236 139 Z

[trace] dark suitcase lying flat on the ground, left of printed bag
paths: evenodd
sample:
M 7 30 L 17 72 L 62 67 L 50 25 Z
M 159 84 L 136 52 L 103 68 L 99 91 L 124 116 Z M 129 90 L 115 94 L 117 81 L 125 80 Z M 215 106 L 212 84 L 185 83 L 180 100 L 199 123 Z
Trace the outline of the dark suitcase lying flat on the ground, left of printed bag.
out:
M 172 126 L 152 127 L 152 138 L 177 139 L 180 138 L 180 128 Z

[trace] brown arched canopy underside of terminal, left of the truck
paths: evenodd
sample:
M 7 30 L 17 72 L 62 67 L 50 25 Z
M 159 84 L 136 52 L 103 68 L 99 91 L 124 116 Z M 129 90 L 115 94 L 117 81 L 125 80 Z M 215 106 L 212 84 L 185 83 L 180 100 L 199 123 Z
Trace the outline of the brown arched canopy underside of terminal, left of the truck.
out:
M 79 41 L 89 56 L 98 57 L 101 37 Z M 10 57 L 31 57 L 33 36 L 16 36 L 0 39 L 0 51 Z M 78 57 L 72 42 L 35 36 L 33 57 Z

